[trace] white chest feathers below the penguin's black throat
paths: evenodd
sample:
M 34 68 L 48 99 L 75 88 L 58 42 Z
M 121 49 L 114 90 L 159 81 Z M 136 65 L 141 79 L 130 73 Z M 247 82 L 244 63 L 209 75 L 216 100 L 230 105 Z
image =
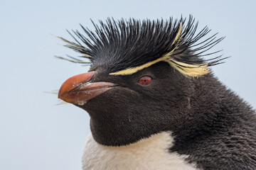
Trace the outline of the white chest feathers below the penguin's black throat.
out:
M 186 155 L 169 152 L 174 138 L 171 132 L 161 132 L 132 145 L 106 147 L 90 135 L 82 155 L 83 170 L 196 170 L 184 161 Z

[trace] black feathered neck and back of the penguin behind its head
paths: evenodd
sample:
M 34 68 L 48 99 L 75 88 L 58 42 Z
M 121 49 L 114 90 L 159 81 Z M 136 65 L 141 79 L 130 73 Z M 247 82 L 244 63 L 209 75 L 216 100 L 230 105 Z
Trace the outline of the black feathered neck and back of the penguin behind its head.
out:
M 189 155 L 187 161 L 196 162 L 201 169 L 226 169 L 230 164 L 238 168 L 237 162 L 242 158 L 245 159 L 241 162 L 255 162 L 247 159 L 247 154 L 255 153 L 251 147 L 255 111 L 215 78 L 198 79 L 195 88 L 187 113 L 189 120 L 173 131 L 174 145 L 170 152 Z M 241 167 L 238 169 L 245 169 Z

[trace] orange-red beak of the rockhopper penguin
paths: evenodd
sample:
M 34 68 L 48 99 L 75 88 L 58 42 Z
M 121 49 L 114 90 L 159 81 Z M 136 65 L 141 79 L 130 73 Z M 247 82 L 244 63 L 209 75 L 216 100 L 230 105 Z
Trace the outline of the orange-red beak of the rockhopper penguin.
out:
M 110 82 L 90 83 L 95 72 L 78 74 L 67 79 L 60 87 L 58 98 L 68 103 L 84 105 L 87 101 L 112 89 L 115 84 Z

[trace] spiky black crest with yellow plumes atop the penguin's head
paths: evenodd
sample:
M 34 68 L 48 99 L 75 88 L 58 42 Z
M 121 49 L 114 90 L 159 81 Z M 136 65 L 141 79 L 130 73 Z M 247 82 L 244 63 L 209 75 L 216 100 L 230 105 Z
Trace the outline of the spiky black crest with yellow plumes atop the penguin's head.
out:
M 196 33 L 198 22 L 195 23 L 192 16 L 189 16 L 188 21 L 182 17 L 179 21 L 173 18 L 166 21 L 140 21 L 134 18 L 128 21 L 114 21 L 113 18 L 107 18 L 105 23 L 100 21 L 100 26 L 95 23 L 93 25 L 95 32 L 81 25 L 85 35 L 78 30 L 73 30 L 73 33 L 68 31 L 74 41 L 60 39 L 68 43 L 66 47 L 80 52 L 80 57 L 89 59 L 92 65 L 99 64 L 108 73 L 138 68 L 148 63 L 154 64 L 154 61 L 161 61 L 161 57 L 167 55 L 168 58 L 163 61 L 169 62 L 183 74 L 201 72 L 196 68 L 206 69 L 205 67 L 220 64 L 220 60 L 223 60 L 220 56 L 210 60 L 201 59 L 203 56 L 220 52 L 207 53 L 223 38 L 216 38 L 217 33 L 206 38 L 210 32 L 207 27 Z M 77 63 L 90 63 L 78 57 L 59 58 Z M 193 75 L 201 74 L 191 74 Z

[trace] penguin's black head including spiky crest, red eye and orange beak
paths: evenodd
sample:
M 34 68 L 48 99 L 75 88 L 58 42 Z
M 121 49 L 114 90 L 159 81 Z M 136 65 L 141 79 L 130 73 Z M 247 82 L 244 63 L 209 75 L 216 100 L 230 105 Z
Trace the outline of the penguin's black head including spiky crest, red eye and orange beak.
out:
M 95 25 L 95 33 L 82 27 L 88 38 L 74 31 L 82 42 L 75 36 L 75 42 L 61 38 L 91 64 L 89 72 L 65 81 L 58 97 L 89 113 L 97 142 L 129 145 L 158 132 L 178 130 L 191 119 L 193 81 L 210 77 L 208 67 L 220 63 L 216 58 L 203 60 L 201 54 L 223 38 L 201 40 L 210 30 L 196 34 L 192 17 L 185 23 L 183 18 L 107 19 Z

